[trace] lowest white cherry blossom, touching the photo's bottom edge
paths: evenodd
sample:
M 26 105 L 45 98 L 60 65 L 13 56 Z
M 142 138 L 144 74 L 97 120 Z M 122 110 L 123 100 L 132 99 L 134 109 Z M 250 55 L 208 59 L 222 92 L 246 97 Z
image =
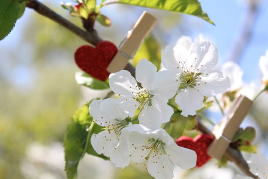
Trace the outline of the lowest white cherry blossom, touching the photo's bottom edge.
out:
M 196 166 L 196 152 L 178 146 L 162 128 L 152 131 L 134 124 L 124 128 L 122 134 L 128 139 L 131 160 L 145 162 L 148 172 L 157 179 L 173 178 L 175 165 L 182 169 Z

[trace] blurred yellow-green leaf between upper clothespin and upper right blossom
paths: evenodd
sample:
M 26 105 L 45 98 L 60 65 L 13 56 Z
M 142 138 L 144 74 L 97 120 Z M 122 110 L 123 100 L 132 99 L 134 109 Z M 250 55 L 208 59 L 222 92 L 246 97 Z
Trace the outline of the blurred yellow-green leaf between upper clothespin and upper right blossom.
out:
M 147 58 L 149 61 L 154 63 L 158 70 L 160 69 L 161 48 L 158 41 L 152 34 L 147 36 L 141 44 L 138 52 L 133 58 L 134 65 L 136 66 L 142 58 Z

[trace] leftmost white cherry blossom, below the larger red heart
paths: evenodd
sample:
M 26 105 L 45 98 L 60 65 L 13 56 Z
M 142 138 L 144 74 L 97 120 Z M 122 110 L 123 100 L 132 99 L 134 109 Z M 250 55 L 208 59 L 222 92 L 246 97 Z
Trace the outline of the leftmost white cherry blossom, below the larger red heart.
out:
M 104 131 L 91 136 L 94 150 L 110 157 L 116 167 L 124 168 L 129 164 L 127 141 L 121 137 L 130 118 L 114 99 L 93 100 L 89 105 L 89 113 L 94 122 L 106 127 Z

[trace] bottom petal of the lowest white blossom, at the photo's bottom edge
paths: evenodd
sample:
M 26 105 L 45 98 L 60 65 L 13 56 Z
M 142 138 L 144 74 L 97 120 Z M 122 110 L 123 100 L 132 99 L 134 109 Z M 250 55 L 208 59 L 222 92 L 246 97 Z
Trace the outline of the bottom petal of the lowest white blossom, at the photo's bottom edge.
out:
M 156 179 L 172 179 L 174 164 L 165 154 L 151 154 L 147 164 L 148 172 Z

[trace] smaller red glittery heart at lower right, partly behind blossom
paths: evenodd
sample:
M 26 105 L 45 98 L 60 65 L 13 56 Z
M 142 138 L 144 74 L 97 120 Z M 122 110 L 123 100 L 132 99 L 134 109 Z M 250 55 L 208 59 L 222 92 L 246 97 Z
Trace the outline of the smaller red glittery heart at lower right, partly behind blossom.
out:
M 201 167 L 207 163 L 211 156 L 208 155 L 208 146 L 213 141 L 213 137 L 209 135 L 198 135 L 194 139 L 182 136 L 176 140 L 177 145 L 196 151 L 197 153 L 197 167 Z

